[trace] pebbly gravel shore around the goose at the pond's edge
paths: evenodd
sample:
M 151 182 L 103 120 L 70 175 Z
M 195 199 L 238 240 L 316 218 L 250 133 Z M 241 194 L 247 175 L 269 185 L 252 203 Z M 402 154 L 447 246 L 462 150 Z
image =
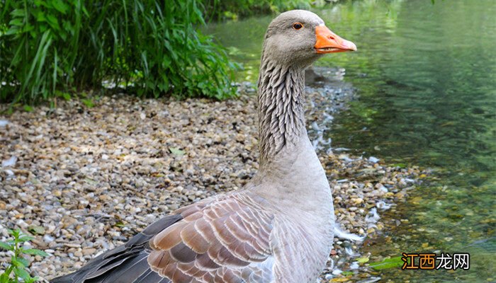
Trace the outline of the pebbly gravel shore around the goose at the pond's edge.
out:
M 30 258 L 30 271 L 51 279 L 125 243 L 171 210 L 238 190 L 258 168 L 256 99 L 252 86 L 241 88 L 239 99 L 222 102 L 115 95 L 96 99 L 93 108 L 70 100 L 53 110 L 0 116 L 0 241 L 7 228 L 35 234 L 32 246 L 50 257 Z M 359 239 L 383 229 L 378 212 L 403 199 L 421 174 L 329 149 L 332 114 L 352 98 L 344 83 L 308 88 L 310 138 L 343 232 L 334 239 L 322 282 L 371 276 L 355 261 Z M 0 251 L 0 266 L 8 260 Z

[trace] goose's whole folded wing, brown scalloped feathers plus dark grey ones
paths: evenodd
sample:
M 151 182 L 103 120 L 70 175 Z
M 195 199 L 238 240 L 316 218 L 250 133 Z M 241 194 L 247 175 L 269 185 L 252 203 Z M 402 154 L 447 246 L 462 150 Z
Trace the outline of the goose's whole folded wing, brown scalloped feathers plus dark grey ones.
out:
M 52 282 L 271 282 L 274 216 L 237 192 L 178 209 Z

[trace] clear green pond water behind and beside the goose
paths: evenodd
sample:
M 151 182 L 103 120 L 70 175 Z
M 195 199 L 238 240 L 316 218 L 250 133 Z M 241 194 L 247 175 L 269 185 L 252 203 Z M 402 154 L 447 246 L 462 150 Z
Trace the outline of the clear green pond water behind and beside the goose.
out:
M 335 117 L 332 146 L 434 171 L 383 216 L 407 222 L 363 251 L 470 253 L 470 270 L 383 270 L 384 281 L 496 282 L 496 1 L 344 1 L 315 12 L 359 48 L 317 62 L 346 69 L 359 95 Z M 208 28 L 244 64 L 240 79 L 256 81 L 271 18 Z

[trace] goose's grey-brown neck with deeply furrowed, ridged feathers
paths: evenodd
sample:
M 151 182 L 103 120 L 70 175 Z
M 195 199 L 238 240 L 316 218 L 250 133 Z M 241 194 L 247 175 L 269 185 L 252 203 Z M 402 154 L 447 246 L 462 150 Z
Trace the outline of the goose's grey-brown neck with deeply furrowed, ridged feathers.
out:
M 303 68 L 277 64 L 262 56 L 258 81 L 260 165 L 306 134 Z

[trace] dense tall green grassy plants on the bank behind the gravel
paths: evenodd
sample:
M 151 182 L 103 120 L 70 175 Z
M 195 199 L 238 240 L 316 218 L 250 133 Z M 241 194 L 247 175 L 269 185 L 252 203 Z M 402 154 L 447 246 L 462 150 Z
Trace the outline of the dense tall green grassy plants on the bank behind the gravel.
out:
M 217 1 L 217 0 L 215 0 Z M 71 98 L 102 82 L 137 96 L 235 96 L 202 1 L 0 1 L 0 102 Z

